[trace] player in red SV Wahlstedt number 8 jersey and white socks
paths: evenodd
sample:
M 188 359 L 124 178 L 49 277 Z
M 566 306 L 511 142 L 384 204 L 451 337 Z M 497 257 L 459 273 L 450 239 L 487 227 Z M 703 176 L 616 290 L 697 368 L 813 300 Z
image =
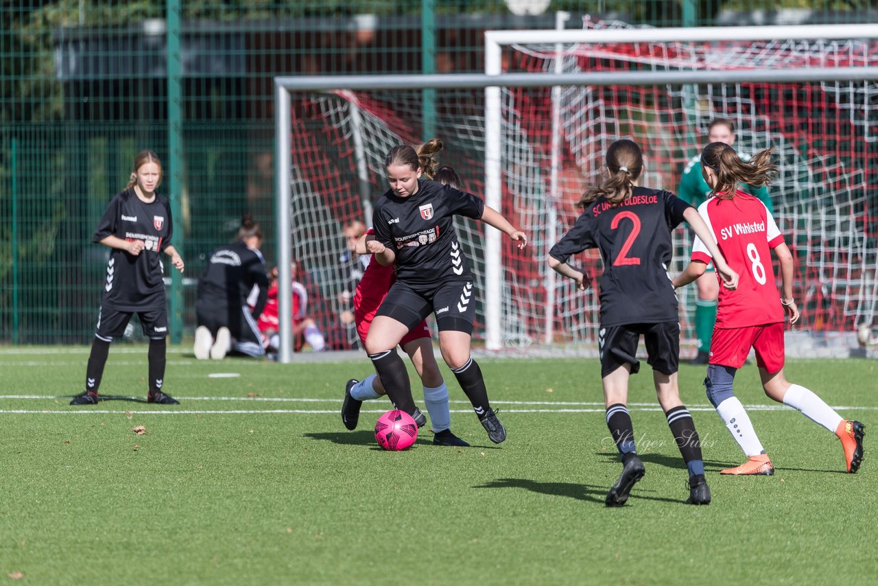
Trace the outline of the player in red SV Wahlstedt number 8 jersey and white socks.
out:
M 738 190 L 738 184 L 759 186 L 769 182 L 777 172 L 771 156 L 772 149 L 766 149 L 745 163 L 734 148 L 723 142 L 711 142 L 702 151 L 702 174 L 716 197 L 699 206 L 698 213 L 707 222 L 711 234 L 719 236 L 719 250 L 740 274 L 736 290 L 720 285 L 704 385 L 716 413 L 749 459 L 721 474 L 774 474 L 771 459 L 732 389 L 735 373 L 744 365 L 751 348 L 756 351 L 756 364 L 766 395 L 798 409 L 811 421 L 834 432 L 845 449 L 847 471 L 854 473 L 863 459 L 865 426 L 859 421 L 846 421 L 817 394 L 788 382 L 783 373 L 784 318 L 788 316 L 790 324 L 794 324 L 800 315 L 793 300 L 793 256 L 765 204 Z M 781 264 L 780 297 L 772 250 Z M 713 258 L 702 238 L 696 238 L 692 262 L 673 279 L 673 286 L 685 286 L 701 277 Z

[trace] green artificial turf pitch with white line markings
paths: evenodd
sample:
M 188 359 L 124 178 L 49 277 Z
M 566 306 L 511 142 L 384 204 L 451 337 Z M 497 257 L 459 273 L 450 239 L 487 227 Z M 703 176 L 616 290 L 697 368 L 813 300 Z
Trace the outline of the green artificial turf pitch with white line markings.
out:
M 472 447 L 434 446 L 425 428 L 411 449 L 385 452 L 371 428 L 388 402 L 364 403 L 355 431 L 339 416 L 345 381 L 370 373 L 365 357 L 201 362 L 171 348 L 164 390 L 182 404 L 165 407 L 144 402 L 146 348 L 114 346 L 101 387 L 111 400 L 70 407 L 87 352 L 0 351 L 0 582 L 18 573 L 52 584 L 878 579 L 874 360 L 786 369 L 866 423 L 858 474 L 844 472 L 833 434 L 775 409 L 745 366 L 736 394 L 753 406 L 776 467 L 756 478 L 718 474 L 745 458 L 709 406 L 703 367 L 682 365 L 707 507 L 685 503 L 686 468 L 644 364 L 629 403 L 646 475 L 628 504 L 608 509 L 621 465 L 595 360 L 480 358 L 508 431 L 501 445 L 443 370 L 451 429 Z

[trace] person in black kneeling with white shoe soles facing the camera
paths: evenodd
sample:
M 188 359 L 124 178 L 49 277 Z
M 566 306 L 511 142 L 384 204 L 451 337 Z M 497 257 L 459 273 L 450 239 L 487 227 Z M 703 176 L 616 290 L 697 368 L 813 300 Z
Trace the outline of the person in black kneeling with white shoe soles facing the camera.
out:
M 262 245 L 263 228 L 248 214 L 241 219 L 238 239 L 212 252 L 198 279 L 195 358 L 219 360 L 229 350 L 254 358 L 265 356 L 263 336 L 256 325 L 269 291 L 265 259 L 259 250 Z

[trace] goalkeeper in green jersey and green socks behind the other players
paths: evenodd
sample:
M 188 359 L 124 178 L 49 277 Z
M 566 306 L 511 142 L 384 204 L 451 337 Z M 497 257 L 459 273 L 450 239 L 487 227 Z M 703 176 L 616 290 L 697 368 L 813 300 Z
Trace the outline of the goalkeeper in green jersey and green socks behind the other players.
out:
M 735 144 L 735 125 L 730 119 L 716 118 L 708 125 L 708 143 L 724 142 L 730 146 Z M 747 161 L 750 156 L 738 151 L 741 159 Z M 769 213 L 774 213 L 771 195 L 767 187 L 741 185 L 743 190 L 759 198 L 766 205 Z M 702 177 L 700 155 L 695 155 L 687 163 L 680 179 L 677 197 L 688 204 L 698 207 L 710 197 L 710 187 Z M 716 322 L 716 299 L 719 297 L 719 283 L 713 268 L 709 268 L 698 279 L 698 297 L 695 300 L 695 335 L 698 336 L 698 355 L 691 361 L 694 365 L 706 365 L 710 358 L 710 336 L 713 335 Z

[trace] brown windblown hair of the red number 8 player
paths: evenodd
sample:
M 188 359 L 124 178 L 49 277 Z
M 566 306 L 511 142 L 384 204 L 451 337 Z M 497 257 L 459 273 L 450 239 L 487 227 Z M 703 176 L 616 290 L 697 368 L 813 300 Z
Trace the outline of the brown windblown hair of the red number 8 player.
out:
M 750 161 L 742 161 L 738 152 L 724 142 L 711 142 L 702 150 L 702 170 L 716 173 L 716 184 L 711 192 L 719 199 L 732 199 L 738 184 L 761 187 L 771 183 L 777 174 L 777 165 L 771 162 L 774 148 L 760 150 Z

